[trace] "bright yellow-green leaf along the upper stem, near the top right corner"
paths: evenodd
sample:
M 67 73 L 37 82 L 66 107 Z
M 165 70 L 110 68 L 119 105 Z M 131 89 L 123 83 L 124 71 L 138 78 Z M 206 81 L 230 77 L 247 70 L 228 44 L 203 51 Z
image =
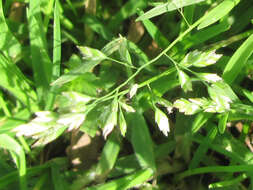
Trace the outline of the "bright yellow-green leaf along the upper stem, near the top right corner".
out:
M 222 17 L 227 15 L 239 2 L 240 0 L 224 0 L 217 7 L 207 13 L 207 15 L 205 15 L 205 19 L 198 26 L 198 30 L 220 20 Z

